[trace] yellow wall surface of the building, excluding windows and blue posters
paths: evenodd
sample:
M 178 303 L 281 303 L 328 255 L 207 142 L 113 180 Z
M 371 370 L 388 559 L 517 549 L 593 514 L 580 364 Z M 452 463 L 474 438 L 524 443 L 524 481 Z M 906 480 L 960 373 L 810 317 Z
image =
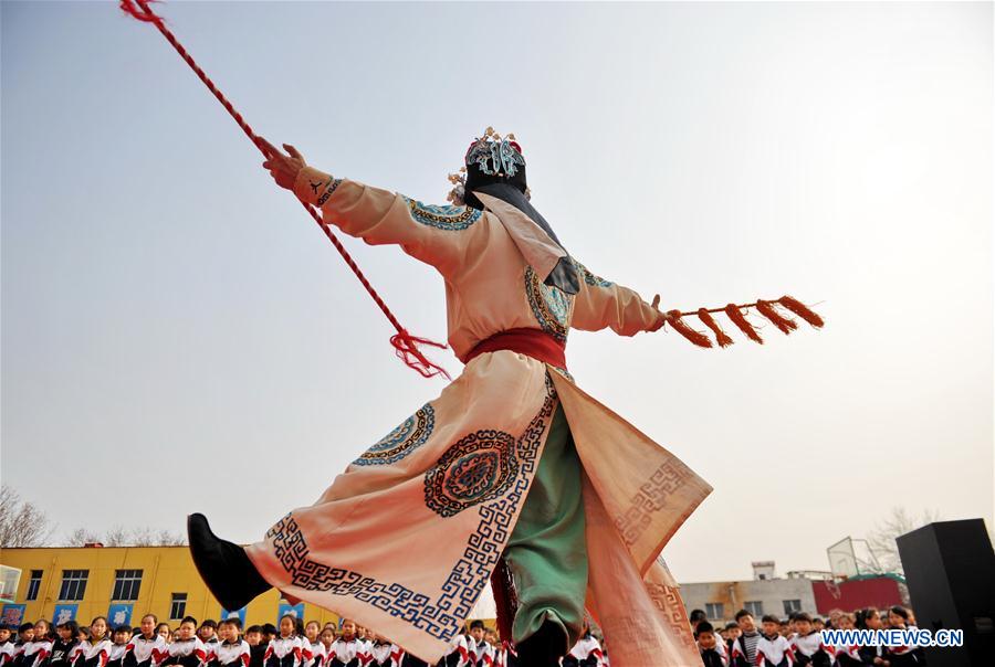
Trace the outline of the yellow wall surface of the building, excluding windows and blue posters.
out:
M 14 604 L 25 604 L 24 618 L 51 620 L 57 604 L 76 604 L 76 622 L 88 625 L 94 616 L 106 616 L 115 604 L 134 604 L 132 625 L 138 625 L 142 616 L 153 613 L 160 622 L 176 627 L 179 618 L 170 618 L 174 593 L 187 594 L 186 615 L 198 622 L 206 618 L 219 621 L 221 605 L 214 600 L 197 573 L 187 547 L 86 547 L 3 549 L 0 564 L 21 570 Z M 41 570 L 42 580 L 38 600 L 25 600 L 31 571 Z M 83 600 L 61 601 L 63 570 L 88 570 Z M 142 570 L 142 586 L 136 601 L 112 601 L 117 570 Z M 245 608 L 245 625 L 277 623 L 280 593 L 269 591 L 253 600 Z M 338 616 L 318 606 L 305 604 L 305 621 L 338 622 Z

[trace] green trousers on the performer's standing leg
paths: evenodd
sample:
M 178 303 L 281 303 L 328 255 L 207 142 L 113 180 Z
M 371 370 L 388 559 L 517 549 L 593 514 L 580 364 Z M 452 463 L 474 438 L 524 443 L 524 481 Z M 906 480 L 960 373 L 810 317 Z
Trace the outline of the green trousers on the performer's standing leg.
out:
M 512 625 L 515 643 L 548 620 L 563 626 L 573 646 L 584 624 L 587 546 L 580 459 L 563 406 L 556 407 L 538 469 L 504 560 L 519 597 Z

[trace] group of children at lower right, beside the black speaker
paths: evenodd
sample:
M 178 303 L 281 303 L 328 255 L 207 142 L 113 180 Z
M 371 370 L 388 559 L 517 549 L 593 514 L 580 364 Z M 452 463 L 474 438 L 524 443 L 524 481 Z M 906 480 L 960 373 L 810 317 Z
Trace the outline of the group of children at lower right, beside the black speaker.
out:
M 835 610 L 823 621 L 804 612 L 787 620 L 766 615 L 756 627 L 746 610 L 734 623 L 719 628 L 708 622 L 701 610 L 691 612 L 691 627 L 705 667 L 924 667 L 920 646 L 827 645 L 823 629 L 915 629 L 915 617 L 902 606 L 887 613 L 874 607 L 848 614 Z

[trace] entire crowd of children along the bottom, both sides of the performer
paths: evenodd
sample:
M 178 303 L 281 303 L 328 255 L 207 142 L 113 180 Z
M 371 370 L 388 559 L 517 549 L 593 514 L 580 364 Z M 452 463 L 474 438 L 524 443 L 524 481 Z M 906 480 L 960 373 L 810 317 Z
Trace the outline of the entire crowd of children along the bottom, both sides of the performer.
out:
M 870 607 L 855 614 L 832 612 L 826 621 L 806 613 L 788 620 L 764 616 L 760 629 L 743 610 L 734 623 L 715 628 L 704 612 L 691 612 L 691 626 L 704 667 L 925 667 L 919 646 L 831 646 L 823 629 L 915 629 L 905 607 L 887 613 Z M 11 637 L 15 632 L 17 636 Z M 588 628 L 563 658 L 564 667 L 607 667 L 603 643 Z M 111 629 L 104 616 L 90 627 L 48 621 L 0 627 L 0 667 L 429 667 L 387 638 L 350 620 L 339 625 L 304 623 L 293 615 L 280 626 L 242 631 L 238 616 L 178 627 L 146 614 L 138 627 Z M 520 667 L 514 647 L 481 621 L 470 623 L 450 644 L 438 667 Z

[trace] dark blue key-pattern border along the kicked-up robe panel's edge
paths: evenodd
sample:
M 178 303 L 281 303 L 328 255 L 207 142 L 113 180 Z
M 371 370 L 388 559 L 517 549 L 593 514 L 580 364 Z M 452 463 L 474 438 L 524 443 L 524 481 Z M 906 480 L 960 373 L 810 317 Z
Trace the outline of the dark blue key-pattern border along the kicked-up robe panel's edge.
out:
M 521 466 L 507 495 L 480 506 L 480 522 L 470 533 L 463 555 L 453 564 L 442 584 L 442 594 L 432 599 L 399 583 L 385 583 L 343 568 L 331 568 L 311 560 L 307 542 L 293 514 L 286 515 L 268 532 L 276 560 L 291 575 L 291 583 L 307 591 L 347 595 L 409 623 L 413 627 L 449 642 L 470 614 L 476 599 L 498 564 L 498 559 L 514 528 L 512 518 L 528 491 L 528 480 L 537 465 L 536 454 L 543 434 L 556 407 L 556 391 L 546 374 L 546 400 L 516 443 Z M 329 601 L 329 604 L 333 604 Z

